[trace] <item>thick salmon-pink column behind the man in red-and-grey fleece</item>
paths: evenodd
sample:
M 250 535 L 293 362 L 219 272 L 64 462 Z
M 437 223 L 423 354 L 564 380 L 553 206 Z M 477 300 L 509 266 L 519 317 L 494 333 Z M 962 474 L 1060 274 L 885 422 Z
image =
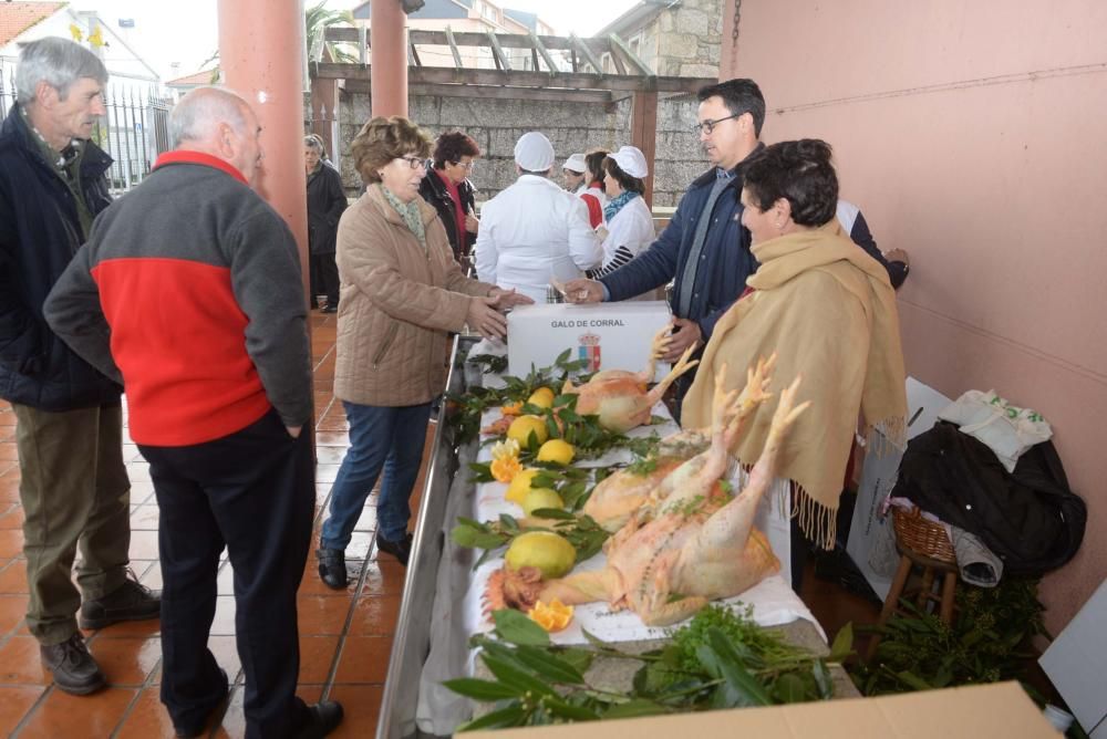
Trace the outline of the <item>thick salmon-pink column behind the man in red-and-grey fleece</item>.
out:
M 261 124 L 259 192 L 300 248 L 308 294 L 308 202 L 303 171 L 302 0 L 219 0 L 219 66 Z

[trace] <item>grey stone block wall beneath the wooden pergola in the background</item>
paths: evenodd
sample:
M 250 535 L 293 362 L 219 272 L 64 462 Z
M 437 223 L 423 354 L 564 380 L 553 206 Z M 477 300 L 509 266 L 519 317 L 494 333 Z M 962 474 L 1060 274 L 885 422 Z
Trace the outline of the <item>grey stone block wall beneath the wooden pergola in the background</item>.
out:
M 675 206 L 687 185 L 707 167 L 692 132 L 695 107 L 694 97 L 689 96 L 659 101 L 654 206 Z M 487 200 L 515 181 L 515 142 L 528 131 L 540 131 L 552 142 L 559 178 L 561 163 L 573 152 L 614 149 L 630 143 L 630 100 L 612 106 L 478 97 L 414 96 L 408 101 L 411 118 L 432 138 L 446 131 L 464 131 L 476 139 L 482 156 L 470 178 L 478 189 L 477 200 Z M 350 142 L 369 117 L 369 95 L 343 95 L 340 165 L 351 194 L 361 189 L 361 178 L 349 157 Z

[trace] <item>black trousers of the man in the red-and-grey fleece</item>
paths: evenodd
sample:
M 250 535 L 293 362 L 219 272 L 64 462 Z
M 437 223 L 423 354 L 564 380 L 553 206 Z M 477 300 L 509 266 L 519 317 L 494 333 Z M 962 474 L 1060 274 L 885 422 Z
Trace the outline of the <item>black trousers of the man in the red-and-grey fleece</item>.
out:
M 246 736 L 294 732 L 307 719 L 296 697 L 296 592 L 314 513 L 309 435 L 292 439 L 270 410 L 215 441 L 139 449 L 161 510 L 162 702 L 175 725 L 195 725 L 226 691 L 207 647 L 226 545 L 246 673 Z

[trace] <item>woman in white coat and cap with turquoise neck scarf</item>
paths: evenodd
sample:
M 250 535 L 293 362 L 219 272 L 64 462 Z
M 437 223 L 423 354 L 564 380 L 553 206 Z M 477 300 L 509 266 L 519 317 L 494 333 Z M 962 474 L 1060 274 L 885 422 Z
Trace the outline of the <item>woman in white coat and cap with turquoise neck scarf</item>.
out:
M 619 269 L 653 243 L 653 214 L 642 197 L 648 175 L 645 155 L 637 146 L 623 146 L 603 160 L 603 191 L 608 196 L 603 207 L 607 227 L 599 229 L 603 263 L 589 270 L 589 278 Z

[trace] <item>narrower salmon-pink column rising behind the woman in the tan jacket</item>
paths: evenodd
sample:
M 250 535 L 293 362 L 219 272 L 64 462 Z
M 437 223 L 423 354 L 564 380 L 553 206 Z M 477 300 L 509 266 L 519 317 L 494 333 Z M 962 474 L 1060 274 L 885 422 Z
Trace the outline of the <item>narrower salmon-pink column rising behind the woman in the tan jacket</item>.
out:
M 407 115 L 407 15 L 400 0 L 370 7 L 370 84 L 373 115 Z

